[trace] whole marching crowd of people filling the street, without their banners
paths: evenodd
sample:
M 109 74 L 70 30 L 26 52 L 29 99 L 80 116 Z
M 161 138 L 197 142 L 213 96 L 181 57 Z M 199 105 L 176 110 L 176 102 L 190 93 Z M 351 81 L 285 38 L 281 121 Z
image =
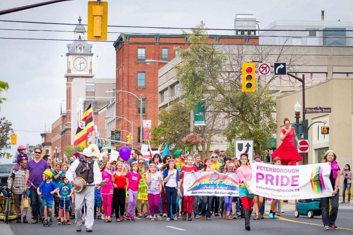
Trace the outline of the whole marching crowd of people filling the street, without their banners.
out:
M 281 130 L 280 136 L 283 142 L 272 153 L 275 165 L 295 165 L 301 161 L 292 146 L 293 140 L 298 142 L 298 139 L 289 123 L 285 119 L 285 128 Z M 156 153 L 149 160 L 144 159 L 138 149 L 132 149 L 128 161 L 124 161 L 121 157 L 110 160 L 109 154 L 103 155 L 102 160 L 99 160 L 94 150 L 87 147 L 83 152 L 74 153 L 67 163 L 60 163 L 53 161 L 47 154 L 41 157 L 41 147 L 34 149 L 34 158 L 30 161 L 23 145 L 18 147 L 18 151 L 18 163 L 14 165 L 8 179 L 8 190 L 14 193 L 17 223 L 28 223 L 27 216 L 30 216 L 32 224 L 42 222 L 50 225 L 55 215 L 57 224 L 71 224 L 70 219 L 75 219 L 77 231 L 81 231 L 85 224 L 86 231 L 91 232 L 94 219 L 103 217 L 104 222 L 109 223 L 114 215 L 116 222 L 134 222 L 135 216 L 146 217 L 150 221 L 161 220 L 162 217 L 166 217 L 166 221 L 191 221 L 193 218 L 211 220 L 214 215 L 223 216 L 226 220 L 244 217 L 245 229 L 250 230 L 253 209 L 253 219 L 263 219 L 266 200 L 271 200 L 269 218 L 276 219 L 281 215 L 280 200 L 266 199 L 250 190 L 252 169 L 247 153 L 242 153 L 237 159 L 230 158 L 217 149 L 210 158 L 205 158 L 202 162 L 199 154 L 185 154 L 181 149 L 174 151 L 172 156 L 164 155 L 163 158 Z M 294 156 L 288 158 L 289 154 Z M 341 203 L 350 201 L 350 166 L 345 165 L 341 172 L 335 160 L 336 154 L 328 150 L 323 162 L 331 165 L 330 181 L 334 190 L 331 197 L 321 198 L 325 230 L 330 227 L 338 228 L 335 221 L 338 212 L 339 176 L 342 176 L 344 190 Z M 254 161 L 261 162 L 260 156 L 256 155 Z M 239 197 L 183 195 L 186 172 L 236 173 Z M 147 186 L 147 192 L 139 191 L 142 185 Z M 30 201 L 28 206 L 28 202 L 24 203 L 27 197 Z

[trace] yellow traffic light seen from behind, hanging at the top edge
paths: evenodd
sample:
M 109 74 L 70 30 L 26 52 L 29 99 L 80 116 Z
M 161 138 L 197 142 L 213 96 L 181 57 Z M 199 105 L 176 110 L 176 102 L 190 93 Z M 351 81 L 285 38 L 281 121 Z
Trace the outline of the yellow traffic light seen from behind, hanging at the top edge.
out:
M 87 39 L 107 40 L 108 2 L 88 2 Z

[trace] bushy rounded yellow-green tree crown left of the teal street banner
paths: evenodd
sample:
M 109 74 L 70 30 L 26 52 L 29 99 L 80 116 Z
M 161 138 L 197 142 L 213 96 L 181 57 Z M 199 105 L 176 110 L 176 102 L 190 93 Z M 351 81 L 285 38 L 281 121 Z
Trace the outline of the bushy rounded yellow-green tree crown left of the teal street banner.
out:
M 158 114 L 159 125 L 151 129 L 151 143 L 164 147 L 168 142 L 173 149 L 184 148 L 182 139 L 190 133 L 190 112 L 181 102 L 173 102 L 169 109 L 162 109 Z

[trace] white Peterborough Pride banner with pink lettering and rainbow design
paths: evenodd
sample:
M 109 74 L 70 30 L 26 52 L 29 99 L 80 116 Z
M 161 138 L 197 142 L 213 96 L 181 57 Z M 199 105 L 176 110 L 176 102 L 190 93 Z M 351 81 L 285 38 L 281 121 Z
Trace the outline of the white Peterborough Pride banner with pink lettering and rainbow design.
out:
M 332 195 L 328 163 L 281 166 L 251 163 L 251 191 L 271 199 L 315 199 Z

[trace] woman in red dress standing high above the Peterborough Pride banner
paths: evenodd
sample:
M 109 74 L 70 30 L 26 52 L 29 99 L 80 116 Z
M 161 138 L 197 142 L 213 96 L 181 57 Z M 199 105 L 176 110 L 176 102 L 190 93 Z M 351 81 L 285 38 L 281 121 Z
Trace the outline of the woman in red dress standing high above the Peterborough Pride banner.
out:
M 296 146 L 294 145 L 294 140 L 299 145 L 299 140 L 295 134 L 294 128 L 291 127 L 291 122 L 286 117 L 284 120 L 285 128 L 280 130 L 280 140 L 282 143 L 279 147 L 271 154 L 272 158 L 278 156 L 281 160 L 282 165 L 294 166 L 297 162 L 302 161 L 303 159 L 298 153 Z

